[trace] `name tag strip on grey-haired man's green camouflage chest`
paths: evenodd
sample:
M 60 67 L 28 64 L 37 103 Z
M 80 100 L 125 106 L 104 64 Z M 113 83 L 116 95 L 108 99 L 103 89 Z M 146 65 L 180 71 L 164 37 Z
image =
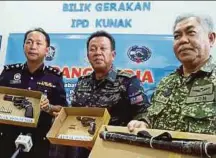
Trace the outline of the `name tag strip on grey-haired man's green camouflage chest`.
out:
M 209 102 L 214 100 L 214 93 L 210 95 L 201 95 L 194 97 L 187 97 L 186 103 L 199 103 L 199 102 Z

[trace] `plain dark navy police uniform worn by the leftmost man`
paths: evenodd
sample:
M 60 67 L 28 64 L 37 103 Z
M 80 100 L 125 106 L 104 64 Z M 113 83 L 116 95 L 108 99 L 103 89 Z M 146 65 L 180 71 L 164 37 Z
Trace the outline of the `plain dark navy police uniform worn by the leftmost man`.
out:
M 67 105 L 62 73 L 50 66 L 42 65 L 33 74 L 28 71 L 27 64 L 6 65 L 0 76 L 0 86 L 41 91 L 53 105 Z M 49 141 L 46 134 L 51 127 L 52 116 L 41 111 L 38 127 L 14 127 L 0 124 L 0 157 L 11 157 L 15 151 L 15 139 L 22 132 L 31 133 L 33 148 L 30 153 L 21 153 L 24 158 L 47 158 Z

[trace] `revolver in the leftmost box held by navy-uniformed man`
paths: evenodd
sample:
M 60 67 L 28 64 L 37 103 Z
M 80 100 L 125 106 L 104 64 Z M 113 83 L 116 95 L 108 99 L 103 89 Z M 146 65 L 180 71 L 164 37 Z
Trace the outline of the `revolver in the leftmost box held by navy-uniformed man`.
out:
M 28 99 L 26 99 L 26 97 L 17 97 L 5 94 L 3 99 L 6 101 L 12 101 L 13 105 L 20 109 L 24 108 L 24 116 L 28 118 L 33 118 L 33 106 L 32 103 Z

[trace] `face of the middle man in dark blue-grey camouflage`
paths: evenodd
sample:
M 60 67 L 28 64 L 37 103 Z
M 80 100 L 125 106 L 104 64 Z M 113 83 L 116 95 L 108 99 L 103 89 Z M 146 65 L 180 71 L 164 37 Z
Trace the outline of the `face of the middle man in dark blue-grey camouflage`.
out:
M 115 57 L 107 37 L 94 37 L 89 42 L 88 59 L 96 72 L 108 71 Z

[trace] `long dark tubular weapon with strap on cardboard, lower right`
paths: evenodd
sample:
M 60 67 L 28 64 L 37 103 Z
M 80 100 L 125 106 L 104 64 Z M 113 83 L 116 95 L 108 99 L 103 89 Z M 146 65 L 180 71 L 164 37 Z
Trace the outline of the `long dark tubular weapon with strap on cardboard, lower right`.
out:
M 105 141 L 120 142 L 199 157 L 211 158 L 216 155 L 216 144 L 214 143 L 197 139 L 172 138 L 168 132 L 153 137 L 147 131 L 140 131 L 137 135 L 102 131 L 99 136 Z

